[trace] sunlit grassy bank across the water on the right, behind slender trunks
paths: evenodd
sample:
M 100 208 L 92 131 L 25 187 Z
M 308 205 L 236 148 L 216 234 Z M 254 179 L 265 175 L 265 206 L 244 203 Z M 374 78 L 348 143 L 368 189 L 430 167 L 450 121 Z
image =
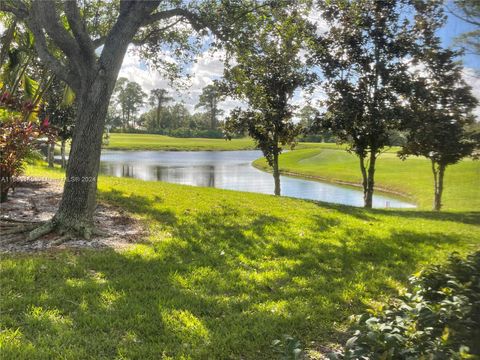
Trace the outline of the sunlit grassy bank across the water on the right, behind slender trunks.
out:
M 268 169 L 265 159 L 256 160 L 254 165 Z M 280 169 L 284 173 L 361 184 L 358 158 L 332 144 L 282 154 Z M 432 207 L 433 174 L 430 162 L 424 158 L 401 161 L 395 151 L 386 152 L 377 162 L 375 181 L 377 189 L 405 194 L 422 210 Z M 464 160 L 447 168 L 443 203 L 445 210 L 480 210 L 480 161 Z

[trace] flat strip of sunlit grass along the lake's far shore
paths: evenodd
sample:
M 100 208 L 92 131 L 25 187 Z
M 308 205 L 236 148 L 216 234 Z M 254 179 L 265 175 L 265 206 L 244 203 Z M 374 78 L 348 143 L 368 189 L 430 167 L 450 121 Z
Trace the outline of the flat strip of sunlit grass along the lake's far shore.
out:
M 204 138 L 174 138 L 152 134 L 116 134 L 110 135 L 110 144 L 105 147 L 110 150 L 252 150 L 255 144 L 250 138 L 204 139 Z

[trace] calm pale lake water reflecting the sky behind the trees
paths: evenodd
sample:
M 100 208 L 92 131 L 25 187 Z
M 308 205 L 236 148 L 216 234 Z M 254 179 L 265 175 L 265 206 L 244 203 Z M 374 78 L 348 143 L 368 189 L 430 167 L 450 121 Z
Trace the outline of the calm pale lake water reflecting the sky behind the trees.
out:
M 176 184 L 215 187 L 273 194 L 271 174 L 254 168 L 260 151 L 112 151 L 102 152 L 100 173 L 117 177 L 165 181 Z M 281 177 L 282 195 L 362 206 L 360 190 L 329 183 Z M 377 208 L 415 207 L 383 195 L 375 195 Z

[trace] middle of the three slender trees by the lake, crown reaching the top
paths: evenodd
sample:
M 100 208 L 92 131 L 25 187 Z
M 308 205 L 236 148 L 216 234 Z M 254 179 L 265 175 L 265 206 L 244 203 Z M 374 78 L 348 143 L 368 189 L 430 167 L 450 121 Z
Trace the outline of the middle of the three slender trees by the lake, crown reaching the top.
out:
M 315 43 L 327 95 L 318 126 L 358 156 L 364 205 L 370 208 L 377 158 L 391 145 L 392 134 L 406 116 L 402 94 L 409 88 L 408 68 L 419 28 L 431 30 L 423 16 L 434 15 L 439 4 L 425 8 L 409 1 L 318 4 L 329 25 Z M 406 11 L 414 13 L 413 22 L 403 15 Z

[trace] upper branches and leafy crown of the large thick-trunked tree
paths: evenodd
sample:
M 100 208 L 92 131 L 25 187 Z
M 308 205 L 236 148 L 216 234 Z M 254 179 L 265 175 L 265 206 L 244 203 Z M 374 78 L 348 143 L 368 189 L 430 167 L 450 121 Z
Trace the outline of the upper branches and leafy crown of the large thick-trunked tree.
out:
M 28 26 L 42 61 L 77 91 L 84 86 L 82 75 L 87 68 L 95 66 L 102 74 L 130 43 L 162 67 L 166 64 L 162 54 L 168 47 L 185 59 L 195 51 L 198 42 L 192 40 L 192 28 L 199 35 L 210 29 L 218 37 L 227 36 L 230 27 L 221 19 L 226 19 L 233 5 L 206 3 L 194 7 L 178 1 L 121 1 L 116 6 L 115 2 L 5 0 L 0 2 L 0 11 L 13 13 Z M 216 10 L 213 14 L 212 9 Z

